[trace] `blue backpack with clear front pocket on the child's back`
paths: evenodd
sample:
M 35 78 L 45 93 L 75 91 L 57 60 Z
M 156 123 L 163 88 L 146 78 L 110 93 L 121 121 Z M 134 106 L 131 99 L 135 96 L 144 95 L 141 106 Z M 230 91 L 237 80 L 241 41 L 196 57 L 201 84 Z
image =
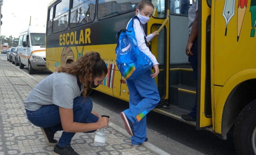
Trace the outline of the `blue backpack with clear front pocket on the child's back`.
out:
M 115 48 L 116 64 L 125 79 L 137 78 L 153 66 L 152 60 L 140 51 L 137 46 L 137 39 L 133 28 L 134 18 L 139 20 L 137 16 L 133 17 L 127 29 L 118 31 L 116 35 L 118 39 Z

